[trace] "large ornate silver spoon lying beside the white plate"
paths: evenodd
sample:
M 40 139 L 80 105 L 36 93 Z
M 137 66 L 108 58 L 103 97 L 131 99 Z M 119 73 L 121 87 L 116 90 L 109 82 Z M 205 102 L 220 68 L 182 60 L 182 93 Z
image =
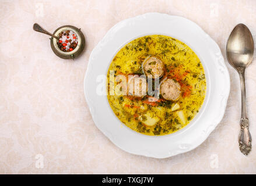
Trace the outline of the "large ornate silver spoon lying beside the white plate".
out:
M 226 54 L 230 65 L 239 73 L 241 83 L 241 131 L 239 134 L 239 148 L 244 155 L 251 151 L 251 134 L 246 110 L 246 87 L 244 72 L 253 60 L 254 42 L 250 30 L 244 24 L 237 24 L 227 40 Z

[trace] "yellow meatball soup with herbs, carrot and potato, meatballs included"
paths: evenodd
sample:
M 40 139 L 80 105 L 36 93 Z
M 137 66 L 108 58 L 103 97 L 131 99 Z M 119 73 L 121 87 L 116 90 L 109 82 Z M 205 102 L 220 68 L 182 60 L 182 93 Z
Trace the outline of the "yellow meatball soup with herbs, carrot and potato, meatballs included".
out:
M 107 80 L 115 116 L 146 135 L 171 134 L 187 126 L 205 99 L 206 79 L 198 56 L 166 35 L 146 35 L 122 47 Z

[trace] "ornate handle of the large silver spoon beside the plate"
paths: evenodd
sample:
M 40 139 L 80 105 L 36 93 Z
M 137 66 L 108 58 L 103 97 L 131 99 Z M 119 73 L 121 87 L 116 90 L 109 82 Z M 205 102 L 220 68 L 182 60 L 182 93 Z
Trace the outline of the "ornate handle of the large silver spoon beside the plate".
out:
M 251 134 L 249 131 L 249 121 L 247 118 L 247 110 L 246 110 L 246 85 L 244 81 L 245 68 L 244 67 L 237 68 L 237 71 L 239 72 L 239 77 L 240 77 L 241 99 L 242 99 L 241 120 L 240 120 L 241 131 L 239 134 L 239 148 L 244 155 L 248 155 L 248 153 L 251 151 Z

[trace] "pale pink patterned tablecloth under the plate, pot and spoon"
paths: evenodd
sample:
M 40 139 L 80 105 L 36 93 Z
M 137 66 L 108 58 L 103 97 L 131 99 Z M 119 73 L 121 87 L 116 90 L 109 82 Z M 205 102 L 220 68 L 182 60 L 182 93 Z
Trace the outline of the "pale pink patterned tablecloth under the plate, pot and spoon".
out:
M 167 159 L 131 155 L 94 125 L 83 94 L 89 55 L 108 29 L 147 12 L 186 17 L 215 40 L 231 90 L 222 121 L 191 152 Z M 226 41 L 237 23 L 256 40 L 256 1 L 0 1 L 0 173 L 256 173 L 256 61 L 246 71 L 253 150 L 239 151 L 240 83 L 227 63 Z M 60 59 L 47 35 L 65 24 L 82 28 L 86 49 Z M 189 29 L 189 28 L 188 28 Z

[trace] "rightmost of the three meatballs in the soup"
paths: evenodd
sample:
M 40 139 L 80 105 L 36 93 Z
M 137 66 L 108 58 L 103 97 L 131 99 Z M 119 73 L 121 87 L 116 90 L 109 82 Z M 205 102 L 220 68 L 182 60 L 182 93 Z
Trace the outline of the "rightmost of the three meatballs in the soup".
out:
M 168 78 L 160 84 L 160 94 L 164 99 L 177 101 L 181 94 L 180 84 Z

